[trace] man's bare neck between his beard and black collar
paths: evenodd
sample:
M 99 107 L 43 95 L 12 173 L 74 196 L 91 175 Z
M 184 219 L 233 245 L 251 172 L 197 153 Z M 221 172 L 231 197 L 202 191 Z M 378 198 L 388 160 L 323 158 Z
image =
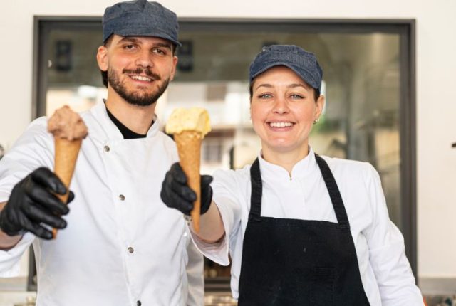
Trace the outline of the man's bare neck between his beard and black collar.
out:
M 152 125 L 156 102 L 149 106 L 131 105 L 117 93 L 108 90 L 105 105 L 125 127 L 138 134 L 147 134 Z

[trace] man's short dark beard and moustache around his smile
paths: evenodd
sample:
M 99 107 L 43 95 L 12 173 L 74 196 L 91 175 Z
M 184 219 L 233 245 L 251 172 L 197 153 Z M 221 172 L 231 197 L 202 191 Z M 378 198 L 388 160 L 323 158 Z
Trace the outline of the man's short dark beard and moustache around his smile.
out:
M 156 80 L 161 80 L 162 78 L 160 75 L 157 75 L 150 71 L 149 69 L 143 69 L 143 68 L 138 68 L 136 70 L 126 70 L 124 69 L 122 71 L 123 74 L 126 73 L 131 73 L 131 74 L 140 74 L 144 72 L 145 75 L 152 77 L 155 81 Z M 149 106 L 152 105 L 153 103 L 157 102 L 158 98 L 161 97 L 161 95 L 165 92 L 166 88 L 168 87 L 168 84 L 170 83 L 170 78 L 167 78 L 166 80 L 163 81 L 162 85 L 159 86 L 159 88 L 152 93 L 145 93 L 141 95 L 140 93 L 136 91 L 130 91 L 128 92 L 127 88 L 123 85 L 123 83 L 120 82 L 118 75 L 115 73 L 115 71 L 111 68 L 108 68 L 108 83 L 109 85 L 115 90 L 120 97 L 123 98 L 126 102 L 130 103 L 131 105 L 138 105 L 138 106 Z

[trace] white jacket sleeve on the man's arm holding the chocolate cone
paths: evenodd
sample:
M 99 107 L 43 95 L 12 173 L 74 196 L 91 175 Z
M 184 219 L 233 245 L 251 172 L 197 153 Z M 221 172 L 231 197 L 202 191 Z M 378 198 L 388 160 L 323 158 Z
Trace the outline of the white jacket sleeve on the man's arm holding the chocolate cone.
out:
M 21 179 L 38 167 L 53 169 L 53 145 L 51 134 L 46 132 L 45 117 L 31 122 L 26 132 L 0 160 L 0 202 L 9 199 L 11 190 Z M 33 242 L 35 236 L 26 233 L 11 250 L 0 250 L 0 276 L 19 274 L 21 255 Z

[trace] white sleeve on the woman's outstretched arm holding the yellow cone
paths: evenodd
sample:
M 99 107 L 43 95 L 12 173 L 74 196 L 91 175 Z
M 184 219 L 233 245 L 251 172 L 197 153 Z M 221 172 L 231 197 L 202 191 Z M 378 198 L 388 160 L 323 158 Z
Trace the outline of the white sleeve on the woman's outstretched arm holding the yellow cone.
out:
M 192 233 L 192 239 L 197 248 L 210 260 L 219 265 L 229 265 L 229 246 L 237 239 L 241 224 L 241 205 L 239 190 L 242 187 L 236 179 L 236 173 L 232 170 L 217 170 L 214 172 L 212 181 L 212 201 L 217 205 L 220 216 L 222 216 L 225 236 L 217 243 L 206 243 Z M 242 238 L 242 235 L 239 235 Z

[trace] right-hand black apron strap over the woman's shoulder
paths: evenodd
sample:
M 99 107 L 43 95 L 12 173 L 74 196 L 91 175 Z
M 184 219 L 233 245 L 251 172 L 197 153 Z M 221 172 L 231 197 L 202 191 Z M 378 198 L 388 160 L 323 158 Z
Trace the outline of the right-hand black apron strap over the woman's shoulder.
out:
M 329 169 L 326 161 L 318 154 L 315 154 L 315 158 L 318 167 L 320 167 L 321 175 L 323 176 L 326 188 L 328 189 L 331 202 L 333 202 L 333 208 L 336 213 L 339 227 L 349 229 L 350 223 L 348 222 L 347 212 L 345 210 L 345 206 L 343 206 L 341 192 L 338 189 L 336 179 L 334 179 L 333 173 Z

